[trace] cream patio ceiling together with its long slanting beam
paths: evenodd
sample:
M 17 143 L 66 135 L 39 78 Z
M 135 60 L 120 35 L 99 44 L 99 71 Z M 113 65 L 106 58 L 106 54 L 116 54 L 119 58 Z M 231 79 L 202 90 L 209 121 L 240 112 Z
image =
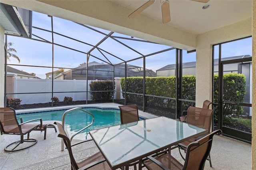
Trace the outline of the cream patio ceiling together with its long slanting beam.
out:
M 169 45 L 196 49 L 199 34 L 252 19 L 252 0 L 169 0 L 171 21 L 162 23 L 160 0 L 133 19 L 128 16 L 148 0 L 1 0 L 2 3 L 81 24 Z M 250 36 L 250 35 L 247 35 Z M 242 37 L 238 37 L 242 38 Z

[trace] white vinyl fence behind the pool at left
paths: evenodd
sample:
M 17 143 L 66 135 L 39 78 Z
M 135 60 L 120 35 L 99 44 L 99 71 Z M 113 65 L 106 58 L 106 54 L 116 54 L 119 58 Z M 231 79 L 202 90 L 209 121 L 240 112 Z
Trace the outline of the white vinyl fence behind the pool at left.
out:
M 53 81 L 54 92 L 68 92 L 70 93 L 54 93 L 53 96 L 58 97 L 60 101 L 64 97 L 72 97 L 73 101 L 86 100 L 86 80 L 56 80 Z M 88 81 L 88 91 L 90 91 L 90 80 Z M 13 93 L 39 93 L 39 94 L 14 94 L 14 99 L 20 99 L 21 105 L 34 103 L 48 103 L 51 102 L 52 93 L 52 79 L 16 79 L 14 78 Z M 116 98 L 116 97 L 115 97 Z M 88 92 L 88 100 L 91 100 Z

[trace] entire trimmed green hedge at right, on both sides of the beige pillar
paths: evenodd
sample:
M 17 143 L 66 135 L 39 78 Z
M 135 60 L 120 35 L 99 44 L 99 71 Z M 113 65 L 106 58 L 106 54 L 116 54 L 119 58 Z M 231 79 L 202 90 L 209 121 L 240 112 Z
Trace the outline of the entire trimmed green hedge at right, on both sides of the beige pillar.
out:
M 143 77 L 127 77 L 127 92 L 143 94 Z M 121 87 L 124 91 L 124 78 L 121 78 Z M 146 94 L 163 97 L 176 97 L 176 77 L 146 77 Z M 246 93 L 245 76 L 237 73 L 229 73 L 224 75 L 224 101 L 243 102 Z M 196 76 L 182 76 L 182 99 L 196 100 Z M 123 93 L 123 97 L 124 93 Z M 127 95 L 127 100 L 138 105 L 142 105 L 143 97 L 141 95 Z M 218 75 L 214 75 L 214 103 L 218 103 Z M 170 99 L 160 99 L 157 97 L 146 97 L 147 106 L 173 108 L 175 109 L 175 101 Z M 189 102 L 183 102 L 183 110 L 190 105 Z M 230 115 L 237 116 L 243 113 L 241 106 L 224 105 L 224 119 Z

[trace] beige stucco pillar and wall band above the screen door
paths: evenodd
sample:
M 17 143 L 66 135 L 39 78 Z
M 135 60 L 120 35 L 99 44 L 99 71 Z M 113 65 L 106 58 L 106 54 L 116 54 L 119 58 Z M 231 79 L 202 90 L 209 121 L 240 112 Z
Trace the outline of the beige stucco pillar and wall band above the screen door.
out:
M 212 45 L 252 35 L 252 20 L 244 20 L 197 36 L 196 106 L 212 99 Z

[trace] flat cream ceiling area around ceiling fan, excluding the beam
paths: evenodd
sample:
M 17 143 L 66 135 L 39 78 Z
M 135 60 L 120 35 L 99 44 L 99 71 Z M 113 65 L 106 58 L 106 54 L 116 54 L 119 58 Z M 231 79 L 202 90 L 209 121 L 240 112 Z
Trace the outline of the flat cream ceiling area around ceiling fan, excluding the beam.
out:
M 113 0 L 120 6 L 136 10 L 148 0 Z M 210 0 L 208 3 L 192 0 L 169 0 L 170 26 L 192 34 L 202 34 L 252 17 L 251 0 Z M 210 4 L 203 10 L 202 6 Z M 160 0 L 146 8 L 140 15 L 162 21 Z M 128 16 L 127 16 L 128 17 Z

